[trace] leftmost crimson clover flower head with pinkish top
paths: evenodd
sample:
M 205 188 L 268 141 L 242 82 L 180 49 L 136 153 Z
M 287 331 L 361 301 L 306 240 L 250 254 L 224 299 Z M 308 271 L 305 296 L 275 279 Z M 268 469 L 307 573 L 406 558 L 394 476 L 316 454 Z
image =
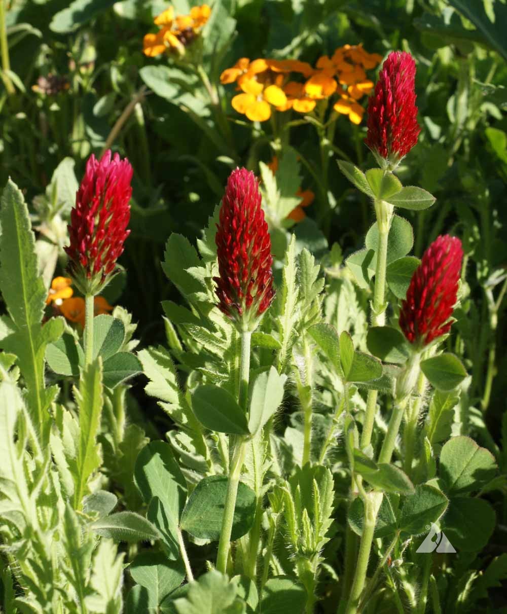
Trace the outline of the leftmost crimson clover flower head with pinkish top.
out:
M 88 158 L 85 176 L 75 197 L 69 224 L 68 271 L 84 294 L 96 295 L 114 274 L 123 243 L 130 234 L 132 166 L 111 158 L 107 150 L 101 160 Z

